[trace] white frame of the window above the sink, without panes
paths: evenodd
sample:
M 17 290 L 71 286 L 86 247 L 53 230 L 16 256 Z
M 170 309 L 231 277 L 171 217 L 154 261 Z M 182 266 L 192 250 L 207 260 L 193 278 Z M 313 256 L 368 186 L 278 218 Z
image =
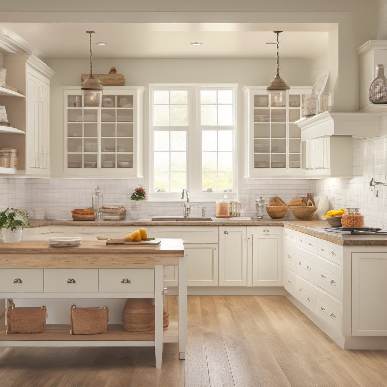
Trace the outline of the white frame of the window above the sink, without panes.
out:
M 191 201 L 215 201 L 223 199 L 225 195 L 230 199 L 237 199 L 238 176 L 237 176 L 237 96 L 238 85 L 235 83 L 221 84 L 149 84 L 149 193 L 150 201 L 181 201 L 181 192 L 153 192 L 154 178 L 154 132 L 157 130 L 186 130 L 187 133 L 187 187 Z M 224 126 L 201 126 L 200 124 L 200 91 L 201 90 L 233 90 L 233 125 Z M 188 126 L 154 126 L 153 125 L 153 98 L 155 90 L 187 90 L 188 91 Z M 233 131 L 233 188 L 232 192 L 202 192 L 202 157 L 198 157 L 198 152 L 202 154 L 202 131 L 208 129 L 231 130 Z M 198 135 L 198 132 L 200 135 Z

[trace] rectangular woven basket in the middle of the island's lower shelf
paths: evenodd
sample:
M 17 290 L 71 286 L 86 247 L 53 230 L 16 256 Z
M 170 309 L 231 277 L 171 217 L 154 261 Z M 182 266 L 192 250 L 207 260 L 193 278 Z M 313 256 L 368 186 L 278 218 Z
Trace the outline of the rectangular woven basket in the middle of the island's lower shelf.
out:
M 77 308 L 70 307 L 70 334 L 93 335 L 107 332 L 109 321 L 109 309 L 101 308 Z

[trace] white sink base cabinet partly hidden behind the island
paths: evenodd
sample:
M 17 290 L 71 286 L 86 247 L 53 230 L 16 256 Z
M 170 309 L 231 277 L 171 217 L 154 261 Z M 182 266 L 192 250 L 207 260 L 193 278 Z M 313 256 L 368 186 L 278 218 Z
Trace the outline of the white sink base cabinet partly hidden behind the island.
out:
M 154 238 L 181 238 L 187 261 L 187 286 L 218 286 L 218 227 L 149 227 Z M 177 286 L 175 267 L 164 267 L 164 285 Z

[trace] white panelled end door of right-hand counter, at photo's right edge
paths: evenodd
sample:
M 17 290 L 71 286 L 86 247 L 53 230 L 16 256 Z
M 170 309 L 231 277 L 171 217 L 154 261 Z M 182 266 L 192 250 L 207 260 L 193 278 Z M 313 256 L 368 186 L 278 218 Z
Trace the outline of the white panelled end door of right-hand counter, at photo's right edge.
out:
M 352 253 L 352 335 L 387 336 L 387 254 Z

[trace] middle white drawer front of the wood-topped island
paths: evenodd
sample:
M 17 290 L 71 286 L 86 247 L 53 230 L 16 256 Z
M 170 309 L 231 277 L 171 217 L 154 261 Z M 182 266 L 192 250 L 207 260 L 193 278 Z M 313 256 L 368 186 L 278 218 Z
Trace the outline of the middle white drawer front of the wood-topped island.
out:
M 98 269 L 44 269 L 45 292 L 98 292 Z

